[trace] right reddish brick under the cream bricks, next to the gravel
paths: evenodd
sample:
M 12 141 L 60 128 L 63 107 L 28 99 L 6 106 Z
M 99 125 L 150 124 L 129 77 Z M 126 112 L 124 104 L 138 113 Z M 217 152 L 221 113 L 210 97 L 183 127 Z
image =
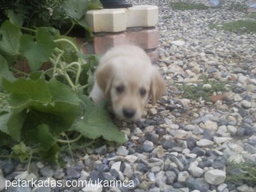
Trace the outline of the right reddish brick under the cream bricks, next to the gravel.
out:
M 139 46 L 142 49 L 154 49 L 159 44 L 159 30 L 144 29 L 141 31 L 124 32 L 127 42 Z

